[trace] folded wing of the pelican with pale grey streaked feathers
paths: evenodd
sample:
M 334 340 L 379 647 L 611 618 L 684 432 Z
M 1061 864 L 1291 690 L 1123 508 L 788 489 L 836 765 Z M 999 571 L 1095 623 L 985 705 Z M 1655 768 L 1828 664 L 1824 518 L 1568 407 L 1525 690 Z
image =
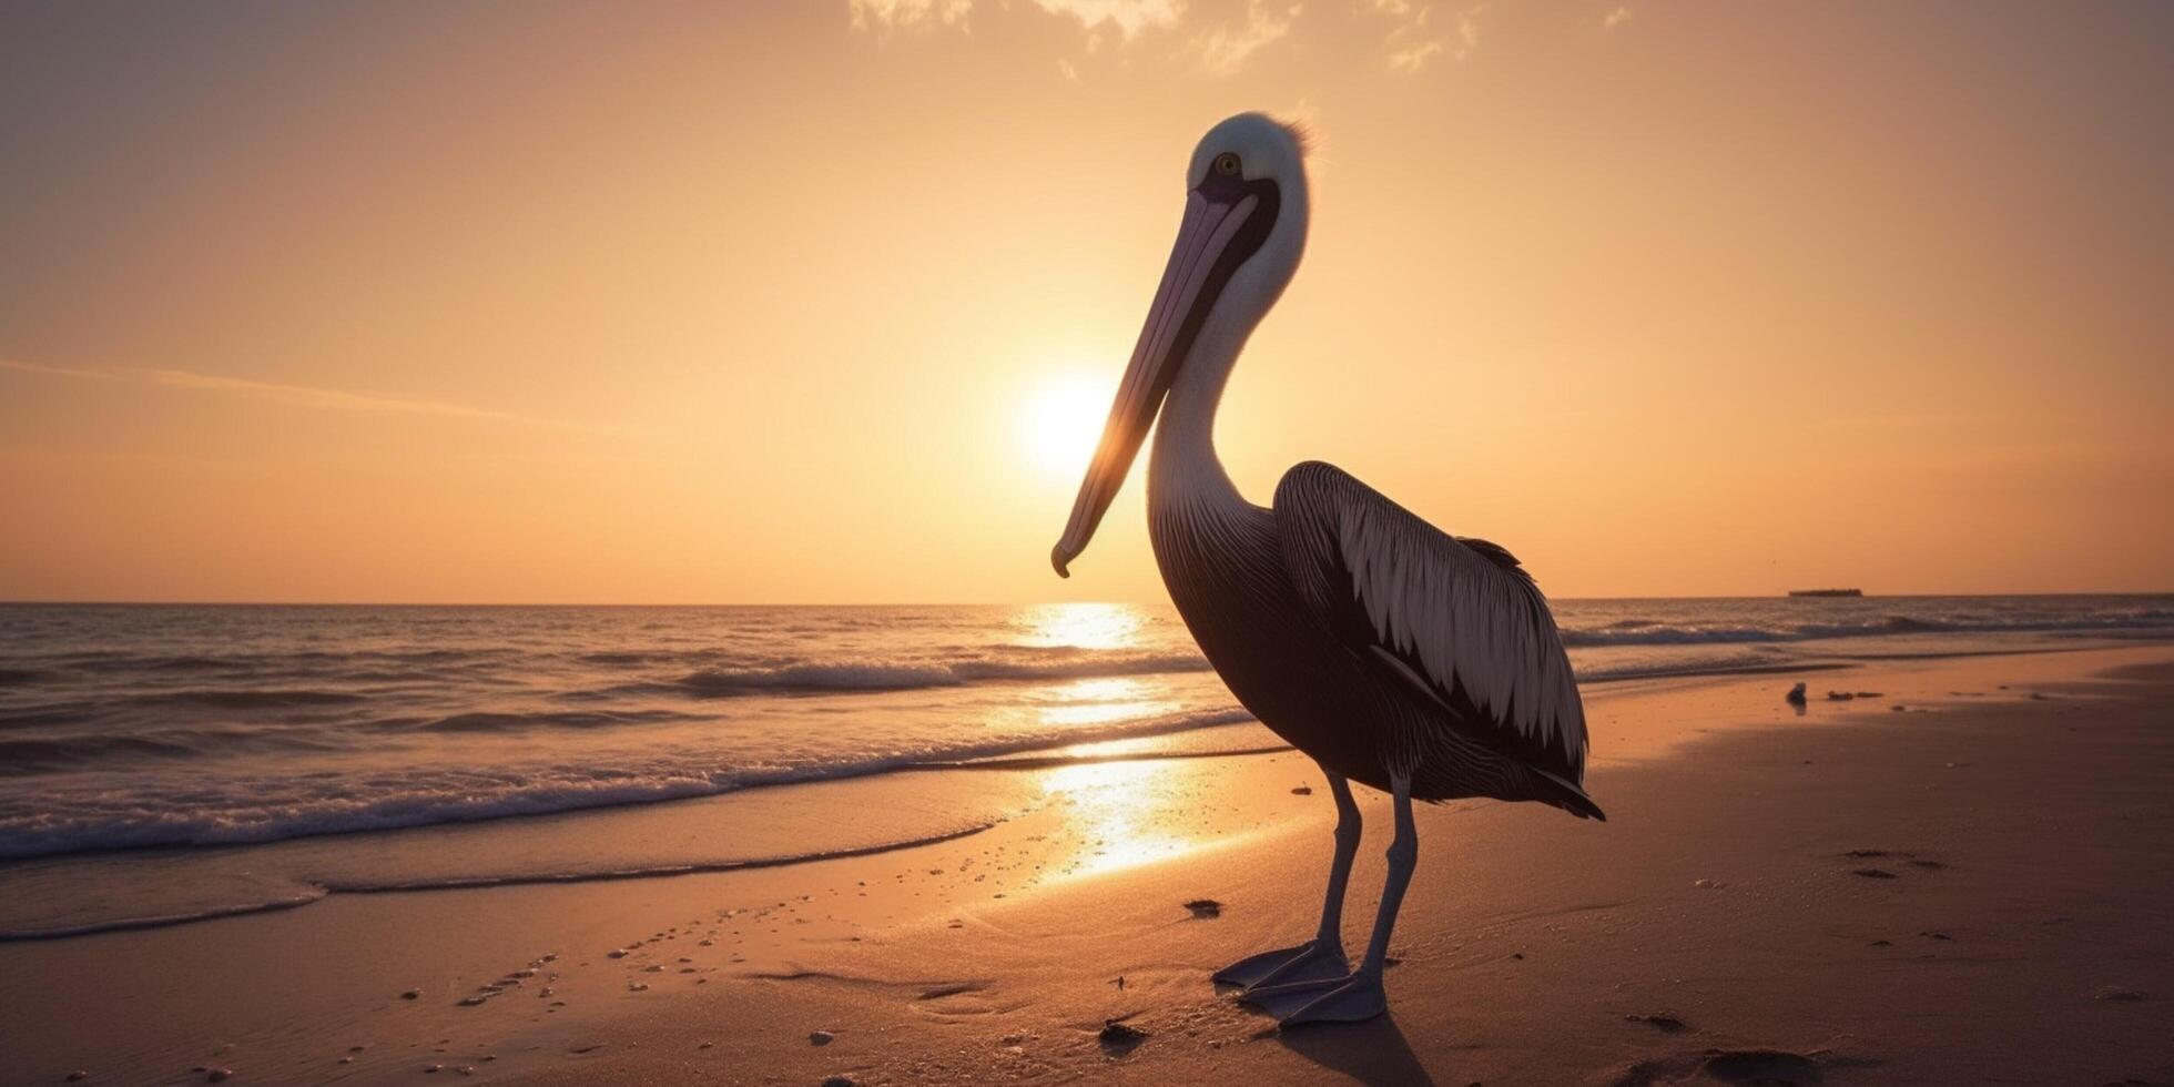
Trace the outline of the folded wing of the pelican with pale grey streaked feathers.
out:
M 1517 559 L 1459 539 L 1359 483 L 1304 463 L 1276 485 L 1298 594 L 1354 652 L 1459 711 L 1533 770 L 1585 778 L 1585 707 L 1548 600 Z

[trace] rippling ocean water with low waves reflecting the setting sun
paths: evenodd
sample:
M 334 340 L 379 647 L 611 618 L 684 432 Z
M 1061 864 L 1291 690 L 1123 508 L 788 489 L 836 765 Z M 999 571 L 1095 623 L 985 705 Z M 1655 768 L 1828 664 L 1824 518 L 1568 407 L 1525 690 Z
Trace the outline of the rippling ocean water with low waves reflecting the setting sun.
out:
M 2174 596 L 1557 600 L 1554 611 L 1587 685 L 2174 637 Z M 63 885 L 39 883 L 72 878 L 72 859 L 172 872 L 202 852 L 261 883 L 280 870 L 270 861 L 307 854 L 374 889 L 413 872 L 387 861 L 359 874 L 354 857 L 335 863 L 326 848 L 261 850 L 961 761 L 1259 746 L 1265 733 L 1248 722 L 1167 607 L 4 604 L 0 885 L 41 889 L 46 902 L 28 917 L 20 894 L 0 896 L 17 900 L 0 907 L 0 939 L 261 907 L 322 894 L 330 878 L 289 865 L 278 894 L 252 885 L 237 900 L 196 872 L 196 889 L 172 902 L 72 913 L 54 900 Z M 985 817 L 907 822 L 939 835 Z M 761 837 L 644 859 L 507 861 L 493 846 L 487 870 L 450 863 L 437 876 L 702 867 L 748 859 Z M 791 837 L 809 857 L 867 846 L 837 826 Z

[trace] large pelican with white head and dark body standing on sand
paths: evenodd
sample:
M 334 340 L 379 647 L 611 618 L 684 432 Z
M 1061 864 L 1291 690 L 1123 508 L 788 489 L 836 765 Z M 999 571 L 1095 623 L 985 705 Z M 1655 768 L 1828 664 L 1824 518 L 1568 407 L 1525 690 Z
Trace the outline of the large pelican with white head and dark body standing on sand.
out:
M 1215 404 L 1307 246 L 1304 137 L 1239 113 L 1194 148 L 1185 185 L 1178 241 L 1050 561 L 1070 576 L 1161 413 L 1148 539 L 1170 598 L 1230 694 L 1320 763 L 1337 802 L 1313 939 L 1215 980 L 1285 1026 L 1370 1020 L 1387 1009 L 1383 959 L 1420 859 L 1411 802 L 1539 800 L 1604 820 L 1583 787 L 1585 707 L 1554 615 L 1509 550 L 1441 533 L 1326 463 L 1289 470 L 1274 507 L 1239 496 L 1215 457 Z M 1396 811 L 1357 970 L 1341 935 L 1354 780 Z

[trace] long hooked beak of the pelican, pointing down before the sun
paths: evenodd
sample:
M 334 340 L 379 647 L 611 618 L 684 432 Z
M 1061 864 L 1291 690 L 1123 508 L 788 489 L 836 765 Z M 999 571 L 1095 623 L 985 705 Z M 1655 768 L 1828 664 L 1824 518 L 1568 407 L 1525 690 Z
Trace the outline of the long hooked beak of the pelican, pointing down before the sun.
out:
M 1198 189 L 1187 193 L 1185 224 L 1178 226 L 1178 243 L 1170 250 L 1170 265 L 1163 267 L 1163 283 L 1154 289 L 1154 304 L 1148 307 L 1148 324 L 1133 346 L 1133 363 L 1117 385 L 1117 402 L 1109 407 L 1109 424 L 1102 426 L 1102 446 L 1094 450 L 1087 478 L 1080 480 L 1080 496 L 1072 502 L 1072 520 L 1063 539 L 1050 550 L 1057 576 L 1070 578 L 1065 570 L 1072 559 L 1087 550 L 1094 530 L 1102 524 L 1117 487 L 1124 487 L 1133 457 L 1148 437 L 1148 424 L 1163 407 L 1170 383 L 1178 376 L 1185 352 L 1191 350 L 1200 324 L 1215 304 L 1215 289 L 1209 289 L 1211 274 L 1222 263 L 1230 239 L 1239 235 L 1246 220 L 1259 209 L 1257 196 L 1237 202 L 1215 202 Z M 1220 285 L 1217 285 L 1220 287 Z

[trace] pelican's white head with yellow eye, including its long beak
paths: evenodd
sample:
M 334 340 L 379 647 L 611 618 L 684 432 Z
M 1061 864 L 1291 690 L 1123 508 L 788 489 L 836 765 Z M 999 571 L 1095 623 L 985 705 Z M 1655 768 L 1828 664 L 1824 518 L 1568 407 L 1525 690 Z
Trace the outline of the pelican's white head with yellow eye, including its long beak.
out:
M 1072 522 L 1050 552 L 1059 576 L 1087 550 L 1124 485 L 1163 396 L 1189 363 L 1202 328 L 1230 350 L 1276 304 L 1307 248 L 1307 137 L 1265 113 L 1228 117 L 1185 167 L 1185 220 L 1117 385 L 1102 446 L 1087 467 Z M 1213 365 L 1230 365 L 1230 354 Z

